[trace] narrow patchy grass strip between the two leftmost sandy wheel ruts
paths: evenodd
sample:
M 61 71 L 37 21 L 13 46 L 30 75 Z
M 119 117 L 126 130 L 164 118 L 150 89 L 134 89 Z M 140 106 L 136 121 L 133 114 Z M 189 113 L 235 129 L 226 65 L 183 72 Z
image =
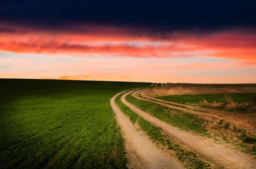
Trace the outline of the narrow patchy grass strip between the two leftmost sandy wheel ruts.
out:
M 149 139 L 153 140 L 157 144 L 161 144 L 162 146 L 167 146 L 167 149 L 172 149 L 175 151 L 175 156 L 178 160 L 185 163 L 185 166 L 189 169 L 209 169 L 209 164 L 200 160 L 195 152 L 190 150 L 183 149 L 179 144 L 175 143 L 173 140 L 170 142 L 170 137 L 163 134 L 163 129 L 160 127 L 156 127 L 152 125 L 149 121 L 145 120 L 143 117 L 134 113 L 131 109 L 125 106 L 124 103 L 121 102 L 120 98 L 122 95 L 116 97 L 116 104 L 119 109 L 124 112 L 132 123 L 138 123 L 140 128 L 146 132 Z M 172 146 L 174 145 L 174 146 Z

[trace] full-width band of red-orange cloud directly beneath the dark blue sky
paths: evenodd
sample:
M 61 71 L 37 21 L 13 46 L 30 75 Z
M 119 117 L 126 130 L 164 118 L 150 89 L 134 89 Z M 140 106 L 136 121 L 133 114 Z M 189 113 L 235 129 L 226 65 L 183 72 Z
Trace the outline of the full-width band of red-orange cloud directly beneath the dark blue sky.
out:
M 1 26 L 6 31 L 0 32 L 0 51 L 121 57 L 208 56 L 256 62 L 256 33 L 241 29 L 211 34 L 158 34 L 142 28 L 95 25 L 54 31 Z

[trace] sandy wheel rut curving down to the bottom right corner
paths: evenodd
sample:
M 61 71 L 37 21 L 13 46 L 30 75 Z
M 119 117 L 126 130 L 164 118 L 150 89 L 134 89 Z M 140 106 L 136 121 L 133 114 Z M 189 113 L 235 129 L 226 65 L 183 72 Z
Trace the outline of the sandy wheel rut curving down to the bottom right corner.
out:
M 199 154 L 201 154 L 202 156 L 204 156 L 209 160 L 213 160 L 216 163 L 217 168 L 221 166 L 224 166 L 225 168 L 232 168 L 232 169 L 256 168 L 255 160 L 252 160 L 248 155 L 245 155 L 239 152 L 238 150 L 233 150 L 228 148 L 229 147 L 228 144 L 213 143 L 214 142 L 213 139 L 201 137 L 198 135 L 193 135 L 185 131 L 180 131 L 179 129 L 173 126 L 170 126 L 169 124 L 157 119 L 156 117 L 153 117 L 148 113 L 143 112 L 142 110 L 138 109 L 136 106 L 132 105 L 131 103 L 128 103 L 125 100 L 125 96 L 131 92 L 134 92 L 134 90 L 125 93 L 121 97 L 121 101 L 125 105 L 127 105 L 131 110 L 141 115 L 143 118 L 145 118 L 149 122 L 153 123 L 155 126 L 161 127 L 166 133 L 168 133 L 168 135 L 172 137 L 176 137 L 178 140 L 180 140 L 185 145 L 189 146 L 189 148 L 193 149 L 195 152 L 198 152 Z M 136 97 L 136 98 L 141 99 L 141 97 L 140 98 Z M 147 99 L 147 101 L 148 100 L 149 99 Z

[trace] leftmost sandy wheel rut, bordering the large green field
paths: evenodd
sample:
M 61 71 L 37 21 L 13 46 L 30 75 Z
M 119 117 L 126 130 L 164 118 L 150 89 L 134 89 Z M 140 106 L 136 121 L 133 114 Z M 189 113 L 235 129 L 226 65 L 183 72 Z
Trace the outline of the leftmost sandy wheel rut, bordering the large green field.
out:
M 176 159 L 170 159 L 163 155 L 148 137 L 143 135 L 144 133 L 141 130 L 137 131 L 129 118 L 116 106 L 115 98 L 122 93 L 113 96 L 110 103 L 126 140 L 125 148 L 130 161 L 128 168 L 183 169 L 184 167 Z

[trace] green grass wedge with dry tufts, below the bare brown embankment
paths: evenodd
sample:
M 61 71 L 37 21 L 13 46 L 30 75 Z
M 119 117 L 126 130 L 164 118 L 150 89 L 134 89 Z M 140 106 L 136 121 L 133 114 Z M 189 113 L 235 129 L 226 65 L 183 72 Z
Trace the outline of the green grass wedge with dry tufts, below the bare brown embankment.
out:
M 256 109 L 255 93 L 234 93 L 228 95 L 169 95 L 157 98 L 176 103 L 195 104 L 196 106 L 205 108 L 235 112 L 255 112 Z

